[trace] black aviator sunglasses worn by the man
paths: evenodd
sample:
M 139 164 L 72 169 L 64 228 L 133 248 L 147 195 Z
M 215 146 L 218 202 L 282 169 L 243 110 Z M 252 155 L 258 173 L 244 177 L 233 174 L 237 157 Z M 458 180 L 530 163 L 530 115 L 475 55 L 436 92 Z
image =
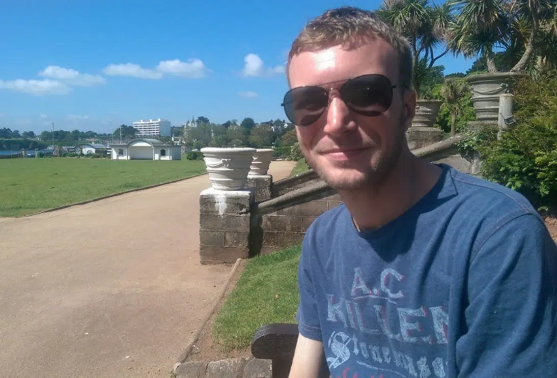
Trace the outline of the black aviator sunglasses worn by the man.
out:
M 325 83 L 324 85 L 333 84 Z M 375 117 L 387 111 L 393 102 L 393 85 L 383 75 L 353 77 L 339 87 L 340 98 L 358 114 Z M 314 124 L 329 107 L 329 92 L 320 86 L 292 88 L 286 92 L 281 106 L 288 119 L 298 126 Z

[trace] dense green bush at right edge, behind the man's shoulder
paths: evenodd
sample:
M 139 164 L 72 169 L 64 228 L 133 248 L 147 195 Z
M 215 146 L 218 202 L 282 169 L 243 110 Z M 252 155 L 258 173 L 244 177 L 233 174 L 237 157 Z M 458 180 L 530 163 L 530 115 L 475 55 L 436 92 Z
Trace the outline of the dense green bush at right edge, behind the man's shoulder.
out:
M 557 205 L 557 78 L 522 78 L 514 94 L 517 124 L 478 146 L 482 175 L 548 209 Z

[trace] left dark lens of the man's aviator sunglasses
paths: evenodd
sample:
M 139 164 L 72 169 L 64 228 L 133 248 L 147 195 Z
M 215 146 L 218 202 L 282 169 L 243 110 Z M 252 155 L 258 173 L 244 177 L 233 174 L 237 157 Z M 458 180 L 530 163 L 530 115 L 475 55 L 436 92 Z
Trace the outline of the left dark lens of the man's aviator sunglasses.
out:
M 294 88 L 284 97 L 286 116 L 298 126 L 309 126 L 316 122 L 328 104 L 327 91 L 317 86 Z

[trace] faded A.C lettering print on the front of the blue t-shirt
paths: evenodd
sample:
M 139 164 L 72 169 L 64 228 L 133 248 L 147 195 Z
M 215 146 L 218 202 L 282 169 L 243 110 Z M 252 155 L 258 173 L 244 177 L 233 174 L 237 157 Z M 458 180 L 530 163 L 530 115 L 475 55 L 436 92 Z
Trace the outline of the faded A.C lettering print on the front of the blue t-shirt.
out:
M 323 329 L 329 335 L 323 341 L 331 374 L 445 377 L 446 310 L 438 304 L 405 307 L 404 276 L 393 268 L 382 271 L 377 286 L 368 287 L 356 267 L 349 298 L 327 294 Z

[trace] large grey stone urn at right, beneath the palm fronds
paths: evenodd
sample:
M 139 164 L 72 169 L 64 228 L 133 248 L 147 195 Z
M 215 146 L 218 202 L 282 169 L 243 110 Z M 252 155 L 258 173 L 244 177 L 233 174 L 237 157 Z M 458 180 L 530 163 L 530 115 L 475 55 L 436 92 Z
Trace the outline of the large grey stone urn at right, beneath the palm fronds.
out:
M 476 120 L 497 124 L 499 96 L 512 92 L 514 81 L 524 74 L 518 72 L 476 73 L 466 77 L 471 87 Z

